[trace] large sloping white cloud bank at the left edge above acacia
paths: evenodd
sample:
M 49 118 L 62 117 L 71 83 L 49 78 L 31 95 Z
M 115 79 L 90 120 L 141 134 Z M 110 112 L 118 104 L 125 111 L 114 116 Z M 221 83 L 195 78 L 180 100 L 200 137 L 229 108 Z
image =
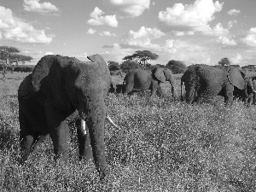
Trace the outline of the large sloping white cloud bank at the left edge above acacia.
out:
M 13 15 L 10 9 L 0 6 L 0 35 L 3 39 L 23 44 L 49 44 L 51 37 L 44 30 L 36 30 L 33 26 Z

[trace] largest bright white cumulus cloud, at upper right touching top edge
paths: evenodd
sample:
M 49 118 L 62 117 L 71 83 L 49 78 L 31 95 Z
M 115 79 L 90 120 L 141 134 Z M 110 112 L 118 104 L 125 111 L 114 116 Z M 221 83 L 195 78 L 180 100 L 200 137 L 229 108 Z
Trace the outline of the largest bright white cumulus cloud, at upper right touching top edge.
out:
M 172 8 L 160 11 L 158 18 L 167 27 L 179 27 L 184 31 L 207 32 L 208 23 L 214 20 L 214 14 L 222 9 L 223 3 L 212 0 L 195 0 L 193 4 L 175 3 Z

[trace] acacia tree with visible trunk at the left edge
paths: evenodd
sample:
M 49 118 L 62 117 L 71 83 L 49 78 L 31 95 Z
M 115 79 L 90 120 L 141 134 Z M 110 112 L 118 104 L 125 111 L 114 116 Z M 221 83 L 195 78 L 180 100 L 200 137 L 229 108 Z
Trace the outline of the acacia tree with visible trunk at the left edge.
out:
M 15 70 L 15 65 L 17 66 L 19 61 L 22 64 L 25 61 L 32 61 L 32 57 L 28 55 L 20 55 L 20 49 L 11 46 L 0 46 L 0 66 L 3 68 L 3 78 L 5 78 L 5 73 L 7 67 L 11 67 L 11 73 Z

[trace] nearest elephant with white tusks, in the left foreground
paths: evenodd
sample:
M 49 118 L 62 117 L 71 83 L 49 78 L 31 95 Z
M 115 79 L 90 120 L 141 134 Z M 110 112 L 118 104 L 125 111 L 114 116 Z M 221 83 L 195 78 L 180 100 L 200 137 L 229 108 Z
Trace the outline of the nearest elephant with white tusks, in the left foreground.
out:
M 47 135 L 54 145 L 55 160 L 67 160 L 66 119 L 78 110 L 83 125 L 78 128 L 79 159 L 87 160 L 92 154 L 100 178 L 106 176 L 104 120 L 117 127 L 104 101 L 110 73 L 101 55 L 90 55 L 88 59 L 45 55 L 21 82 L 18 101 L 22 164 Z

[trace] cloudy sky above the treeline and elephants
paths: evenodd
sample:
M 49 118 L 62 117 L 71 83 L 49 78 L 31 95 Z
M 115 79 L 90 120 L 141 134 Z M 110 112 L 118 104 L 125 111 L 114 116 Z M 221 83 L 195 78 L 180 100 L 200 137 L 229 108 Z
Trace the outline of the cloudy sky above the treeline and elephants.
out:
M 256 65 L 256 0 L 0 0 L 0 46 L 121 64 L 150 50 L 170 60 Z

